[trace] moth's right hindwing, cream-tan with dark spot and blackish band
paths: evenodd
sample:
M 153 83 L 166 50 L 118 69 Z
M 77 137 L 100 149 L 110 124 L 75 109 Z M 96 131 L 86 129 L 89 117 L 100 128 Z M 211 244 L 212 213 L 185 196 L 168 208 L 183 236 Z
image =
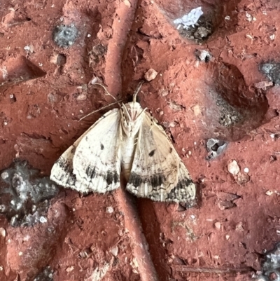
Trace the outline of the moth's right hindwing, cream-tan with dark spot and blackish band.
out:
M 139 197 L 147 197 L 148 190 L 149 196 L 160 200 L 161 193 L 168 193 L 178 181 L 178 157 L 165 132 L 155 123 L 151 128 L 149 114 L 140 132 L 127 189 Z

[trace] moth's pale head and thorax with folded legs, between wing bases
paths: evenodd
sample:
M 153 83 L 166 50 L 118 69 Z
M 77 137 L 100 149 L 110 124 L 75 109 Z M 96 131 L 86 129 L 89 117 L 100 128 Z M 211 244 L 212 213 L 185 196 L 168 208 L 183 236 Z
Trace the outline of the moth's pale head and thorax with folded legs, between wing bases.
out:
M 127 137 L 133 137 L 139 131 L 144 118 L 144 112 L 138 102 L 128 102 L 121 107 L 122 127 Z

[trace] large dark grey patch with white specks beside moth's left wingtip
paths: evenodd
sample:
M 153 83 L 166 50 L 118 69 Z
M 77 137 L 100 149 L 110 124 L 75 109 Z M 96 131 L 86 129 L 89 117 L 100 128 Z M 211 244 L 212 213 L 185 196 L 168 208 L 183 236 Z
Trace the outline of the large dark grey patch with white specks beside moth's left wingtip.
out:
M 0 172 L 0 213 L 12 226 L 47 222 L 49 200 L 59 189 L 48 177 L 41 177 L 26 162 L 16 162 Z

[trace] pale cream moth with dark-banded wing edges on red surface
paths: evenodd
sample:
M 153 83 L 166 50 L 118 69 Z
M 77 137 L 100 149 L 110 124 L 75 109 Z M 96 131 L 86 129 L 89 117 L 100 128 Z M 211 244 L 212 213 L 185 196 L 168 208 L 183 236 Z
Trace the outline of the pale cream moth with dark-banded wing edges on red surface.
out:
M 195 184 L 158 121 L 137 102 L 108 111 L 67 149 L 52 167 L 57 184 L 89 193 L 105 193 L 120 186 L 137 197 L 188 203 L 195 200 Z

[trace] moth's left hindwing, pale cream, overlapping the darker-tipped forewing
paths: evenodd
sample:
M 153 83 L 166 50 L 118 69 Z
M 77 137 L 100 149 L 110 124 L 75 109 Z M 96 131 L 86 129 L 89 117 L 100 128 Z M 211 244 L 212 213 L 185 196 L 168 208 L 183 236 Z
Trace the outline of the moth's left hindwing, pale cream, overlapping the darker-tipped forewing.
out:
M 98 122 L 98 121 L 97 121 Z M 102 118 L 78 144 L 73 157 L 76 177 L 99 193 L 120 186 L 120 112 Z

